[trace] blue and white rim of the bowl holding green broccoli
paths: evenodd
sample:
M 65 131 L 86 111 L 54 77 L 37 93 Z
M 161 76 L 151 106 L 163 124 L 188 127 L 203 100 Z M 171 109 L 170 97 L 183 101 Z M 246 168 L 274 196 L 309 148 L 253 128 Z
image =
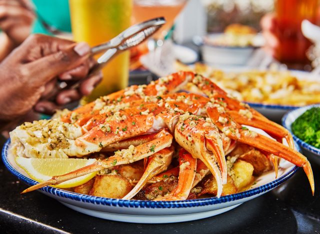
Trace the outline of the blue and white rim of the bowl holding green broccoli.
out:
M 320 107 L 320 104 L 307 105 L 307 106 L 303 106 L 303 107 L 300 107 L 300 108 L 297 108 L 297 109 L 294 109 L 294 110 L 287 112 L 282 117 L 282 125 L 291 132 L 293 139 L 298 143 L 299 146 L 301 146 L 301 147 L 303 147 L 303 148 L 305 148 L 305 149 L 307 149 L 317 155 L 320 155 L 319 148 L 316 148 L 313 145 L 308 144 L 305 141 L 301 140 L 299 137 L 294 135 L 291 130 L 292 122 L 294 122 L 294 120 L 298 116 L 300 116 L 302 113 L 304 113 L 307 109 L 310 109 L 312 107 Z

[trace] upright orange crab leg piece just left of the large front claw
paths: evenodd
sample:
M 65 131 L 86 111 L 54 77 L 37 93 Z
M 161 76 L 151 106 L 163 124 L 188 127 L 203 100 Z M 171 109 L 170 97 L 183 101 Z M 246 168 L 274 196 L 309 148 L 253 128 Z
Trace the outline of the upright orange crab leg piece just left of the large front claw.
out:
M 179 168 L 179 180 L 175 189 L 154 200 L 185 200 L 188 197 L 195 176 L 196 159 L 183 148 L 179 151 Z

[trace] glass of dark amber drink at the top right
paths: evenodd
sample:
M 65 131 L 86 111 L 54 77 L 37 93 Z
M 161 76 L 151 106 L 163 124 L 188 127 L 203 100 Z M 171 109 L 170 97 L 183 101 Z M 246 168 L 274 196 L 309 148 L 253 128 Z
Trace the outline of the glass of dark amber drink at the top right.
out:
M 306 64 L 311 42 L 301 32 L 301 21 L 315 23 L 318 0 L 276 0 L 276 33 L 279 38 L 277 59 L 287 64 Z

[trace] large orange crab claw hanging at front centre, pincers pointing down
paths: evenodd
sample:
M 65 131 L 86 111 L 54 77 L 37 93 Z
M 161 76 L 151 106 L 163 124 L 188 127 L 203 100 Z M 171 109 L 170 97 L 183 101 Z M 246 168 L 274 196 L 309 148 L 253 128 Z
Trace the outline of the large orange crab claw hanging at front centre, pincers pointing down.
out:
M 227 170 L 222 140 L 217 127 L 208 119 L 195 115 L 181 115 L 174 130 L 176 142 L 194 158 L 199 158 L 209 168 L 218 185 L 217 196 L 222 193 Z

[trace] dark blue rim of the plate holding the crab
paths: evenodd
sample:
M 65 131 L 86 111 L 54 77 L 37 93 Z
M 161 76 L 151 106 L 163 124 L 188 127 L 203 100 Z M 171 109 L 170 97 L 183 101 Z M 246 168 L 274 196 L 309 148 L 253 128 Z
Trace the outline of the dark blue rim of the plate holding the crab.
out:
M 14 169 L 6 159 L 7 150 L 10 144 L 10 139 L 8 139 L 2 148 L 2 161 L 6 168 L 18 179 L 22 180 L 24 183 L 28 185 L 34 185 L 38 183 L 37 181 L 30 179 L 16 169 Z M 299 151 L 300 148 L 296 144 L 296 149 Z M 280 177 L 274 179 L 271 182 L 263 184 L 259 187 L 252 188 L 243 192 L 230 194 L 226 196 L 217 197 L 210 197 L 210 198 L 201 198 L 201 199 L 193 199 L 193 200 L 179 200 L 179 201 L 151 201 L 151 200 L 123 200 L 123 199 L 115 199 L 115 198 L 106 198 L 106 197 L 99 197 L 99 196 L 91 196 L 85 194 L 79 194 L 75 192 L 66 191 L 63 189 L 45 186 L 42 187 L 41 190 L 50 193 L 59 197 L 68 198 L 71 200 L 82 201 L 91 204 L 100 204 L 100 205 L 107 205 L 107 206 L 119 206 L 119 207 L 132 207 L 132 208 L 183 208 L 183 207 L 194 207 L 194 206 L 205 206 L 211 204 L 219 204 L 228 201 L 238 200 L 245 197 L 253 196 L 259 194 L 261 192 L 269 191 L 270 189 L 278 186 L 288 178 L 290 178 L 298 169 L 298 166 L 294 166 L 285 174 L 281 175 Z

